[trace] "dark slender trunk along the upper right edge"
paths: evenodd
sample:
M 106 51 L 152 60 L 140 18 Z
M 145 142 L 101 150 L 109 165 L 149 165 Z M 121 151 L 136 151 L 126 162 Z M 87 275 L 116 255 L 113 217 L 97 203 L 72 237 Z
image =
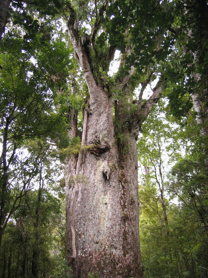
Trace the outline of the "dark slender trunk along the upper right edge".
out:
M 202 124 L 202 135 L 208 135 L 208 78 L 207 64 L 204 62 L 208 40 L 208 6 L 206 0 L 187 0 L 187 6 L 191 4 L 190 10 L 193 12 L 194 31 L 197 32 L 197 40 L 193 40 L 193 30 L 188 30 L 188 40 L 193 40 L 194 47 L 190 51 L 193 56 L 195 68 L 198 72 L 193 72 L 191 76 L 197 83 L 198 92 L 192 95 L 194 109 L 197 112 L 197 123 Z M 187 10 L 188 12 L 188 10 Z M 195 35 L 194 35 L 195 36 Z M 202 86 L 203 84 L 203 86 Z

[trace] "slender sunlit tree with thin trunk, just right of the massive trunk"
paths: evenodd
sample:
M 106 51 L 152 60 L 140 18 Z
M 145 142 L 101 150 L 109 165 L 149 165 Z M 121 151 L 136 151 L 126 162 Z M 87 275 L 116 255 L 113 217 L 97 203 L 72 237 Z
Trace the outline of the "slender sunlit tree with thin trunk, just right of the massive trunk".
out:
M 177 153 L 180 153 L 179 143 L 176 144 L 174 138 L 177 131 L 175 127 L 168 122 L 165 117 L 164 102 L 154 109 L 142 128 L 142 134 L 138 140 L 138 161 L 144 167 L 143 175 L 144 183 L 153 183 L 157 188 L 160 203 L 162 206 L 162 227 L 168 234 L 168 219 L 165 201 L 165 175 L 167 173 L 167 165 L 173 163 Z M 175 130 L 174 130 L 175 129 Z M 169 166 L 170 167 L 170 166 Z

